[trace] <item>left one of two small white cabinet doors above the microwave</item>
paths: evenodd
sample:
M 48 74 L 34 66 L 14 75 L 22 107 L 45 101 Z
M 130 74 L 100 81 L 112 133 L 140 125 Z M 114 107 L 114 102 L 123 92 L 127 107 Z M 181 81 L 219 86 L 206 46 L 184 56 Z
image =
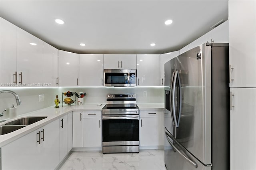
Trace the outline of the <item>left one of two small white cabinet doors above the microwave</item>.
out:
M 120 54 L 104 54 L 104 69 L 120 69 Z

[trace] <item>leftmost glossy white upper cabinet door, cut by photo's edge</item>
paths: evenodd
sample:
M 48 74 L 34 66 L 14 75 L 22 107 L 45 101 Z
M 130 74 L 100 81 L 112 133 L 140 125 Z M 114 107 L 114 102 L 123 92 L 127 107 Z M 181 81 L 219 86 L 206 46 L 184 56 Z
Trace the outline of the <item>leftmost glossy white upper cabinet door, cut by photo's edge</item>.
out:
M 17 69 L 17 27 L 10 22 L 0 18 L 0 85 L 8 87 L 15 85 L 15 75 Z

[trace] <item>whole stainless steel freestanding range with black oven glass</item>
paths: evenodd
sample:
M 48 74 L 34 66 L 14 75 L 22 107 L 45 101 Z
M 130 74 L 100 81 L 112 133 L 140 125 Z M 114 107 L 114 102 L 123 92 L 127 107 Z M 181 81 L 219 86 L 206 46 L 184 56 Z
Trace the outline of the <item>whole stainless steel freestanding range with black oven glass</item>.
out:
M 102 152 L 139 152 L 139 108 L 135 94 L 109 94 L 102 109 Z

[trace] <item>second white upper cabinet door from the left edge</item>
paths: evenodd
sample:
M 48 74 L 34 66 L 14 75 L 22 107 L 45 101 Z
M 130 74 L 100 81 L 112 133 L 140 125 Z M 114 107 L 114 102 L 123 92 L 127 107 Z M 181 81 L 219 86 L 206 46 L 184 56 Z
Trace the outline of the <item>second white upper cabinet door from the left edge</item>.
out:
M 17 27 L 18 81 L 23 86 L 43 83 L 43 41 Z M 21 83 L 21 84 L 22 84 Z

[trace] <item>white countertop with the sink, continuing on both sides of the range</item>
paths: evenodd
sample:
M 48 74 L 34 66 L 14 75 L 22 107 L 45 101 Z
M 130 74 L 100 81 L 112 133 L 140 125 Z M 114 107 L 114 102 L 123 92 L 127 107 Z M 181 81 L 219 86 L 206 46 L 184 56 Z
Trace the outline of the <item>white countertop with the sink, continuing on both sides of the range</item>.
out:
M 140 110 L 148 110 L 148 109 L 163 109 L 164 103 L 138 103 L 137 104 Z M 1 125 L 4 125 L 5 123 L 8 123 L 9 121 L 14 121 L 15 119 L 19 119 L 22 117 L 28 117 L 28 116 L 47 116 L 47 118 L 42 119 L 41 121 L 38 121 L 36 123 L 33 123 L 31 125 L 28 125 L 24 128 L 20 128 L 18 130 L 15 130 L 14 132 L 0 135 L 0 147 L 38 129 L 43 127 L 44 125 L 47 125 L 48 123 L 55 121 L 59 119 L 60 117 L 72 112 L 72 111 L 101 111 L 102 108 L 105 106 L 105 103 L 98 106 L 98 104 L 84 104 L 84 105 L 72 105 L 70 106 L 64 106 L 60 108 L 54 108 L 54 106 L 47 107 L 44 109 L 40 109 L 37 111 L 33 111 L 24 115 L 20 115 L 14 119 L 7 120 L 6 122 L 0 123 Z

